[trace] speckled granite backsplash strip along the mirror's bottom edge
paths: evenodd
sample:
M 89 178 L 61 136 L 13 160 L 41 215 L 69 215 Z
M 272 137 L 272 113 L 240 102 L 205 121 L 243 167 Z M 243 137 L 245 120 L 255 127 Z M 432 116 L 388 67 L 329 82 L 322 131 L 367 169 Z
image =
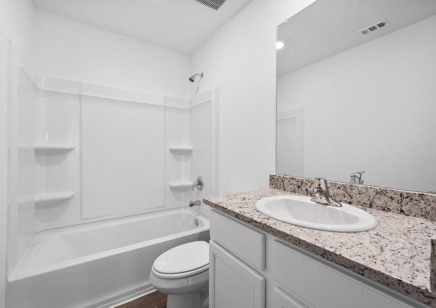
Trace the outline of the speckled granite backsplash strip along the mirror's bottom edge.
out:
M 332 197 L 339 202 L 436 220 L 436 195 L 425 192 L 328 181 Z M 270 187 L 309 196 L 314 179 L 270 175 Z

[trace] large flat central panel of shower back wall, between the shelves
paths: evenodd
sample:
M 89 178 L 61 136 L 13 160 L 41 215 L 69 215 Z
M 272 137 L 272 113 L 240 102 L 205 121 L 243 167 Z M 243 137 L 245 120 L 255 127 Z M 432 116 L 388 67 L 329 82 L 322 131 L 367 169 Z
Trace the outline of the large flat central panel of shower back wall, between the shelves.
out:
M 82 97 L 82 215 L 163 208 L 164 106 Z

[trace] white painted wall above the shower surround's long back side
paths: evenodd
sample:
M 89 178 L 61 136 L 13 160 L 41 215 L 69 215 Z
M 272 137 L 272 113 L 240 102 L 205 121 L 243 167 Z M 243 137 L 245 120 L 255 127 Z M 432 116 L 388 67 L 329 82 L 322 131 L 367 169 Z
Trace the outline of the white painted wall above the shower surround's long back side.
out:
M 61 79 L 166 95 L 188 93 L 188 56 L 36 10 L 34 66 Z

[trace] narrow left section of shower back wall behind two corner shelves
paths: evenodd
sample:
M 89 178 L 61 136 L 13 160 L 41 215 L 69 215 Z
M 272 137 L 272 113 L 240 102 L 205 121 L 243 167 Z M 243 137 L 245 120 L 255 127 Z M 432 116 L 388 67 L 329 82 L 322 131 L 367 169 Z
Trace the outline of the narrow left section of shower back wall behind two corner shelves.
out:
M 80 109 L 78 94 L 40 90 L 36 144 L 72 145 L 72 151 L 35 151 L 34 194 L 73 192 L 74 197 L 35 205 L 36 231 L 77 224 L 80 216 Z

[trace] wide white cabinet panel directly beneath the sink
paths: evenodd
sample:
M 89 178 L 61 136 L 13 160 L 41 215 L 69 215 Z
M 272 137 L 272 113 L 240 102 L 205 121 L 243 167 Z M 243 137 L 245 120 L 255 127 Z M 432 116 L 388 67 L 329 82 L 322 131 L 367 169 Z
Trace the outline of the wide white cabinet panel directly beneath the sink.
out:
M 273 258 L 274 279 L 314 307 L 412 307 L 279 241 Z

